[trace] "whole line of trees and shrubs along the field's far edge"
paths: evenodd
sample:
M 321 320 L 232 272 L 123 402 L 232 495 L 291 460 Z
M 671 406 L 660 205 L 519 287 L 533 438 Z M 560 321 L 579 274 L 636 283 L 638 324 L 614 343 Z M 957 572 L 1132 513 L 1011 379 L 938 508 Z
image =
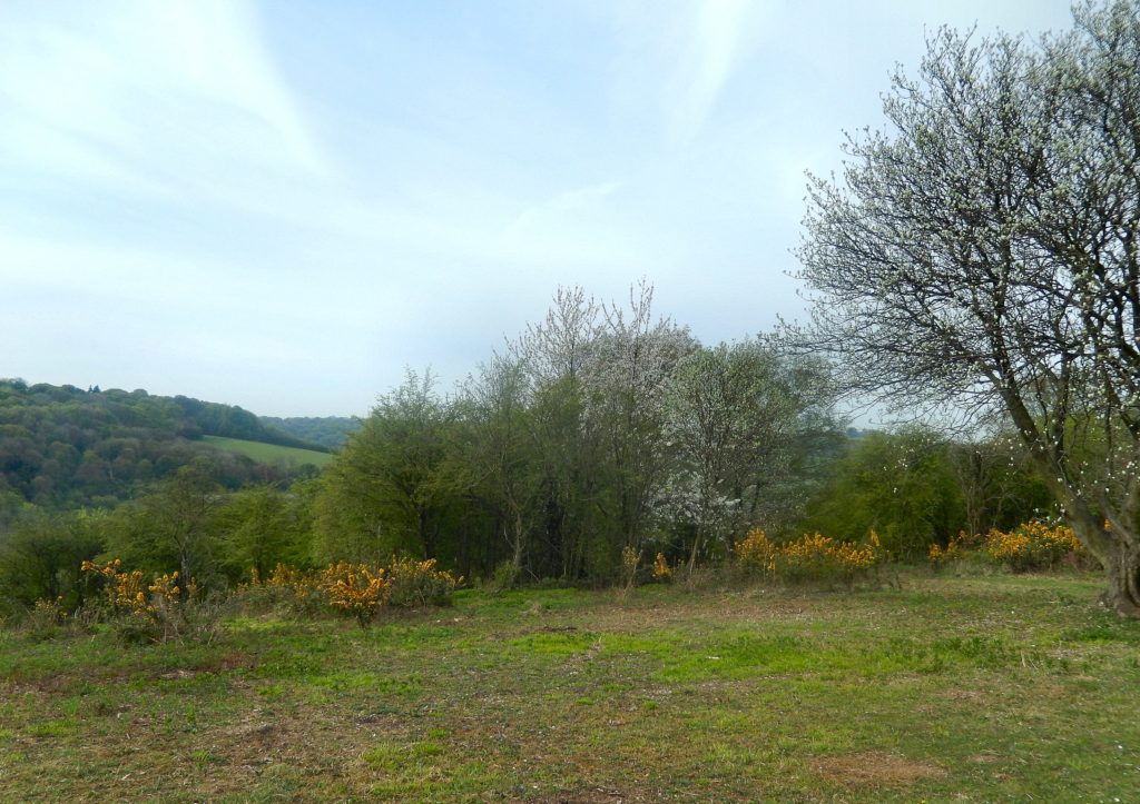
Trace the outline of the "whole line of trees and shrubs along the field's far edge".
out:
M 80 563 L 111 558 L 206 590 L 399 556 L 497 583 L 610 583 L 630 551 L 692 569 L 756 527 L 874 531 L 919 559 L 960 531 L 1056 514 L 1008 434 L 848 430 L 828 364 L 767 338 L 702 345 L 654 315 L 644 285 L 627 305 L 561 289 L 465 382 L 437 385 L 408 371 L 319 477 L 238 457 L 258 470 L 231 476 L 189 452 L 146 484 L 120 470 L 116 504 L 26 506 L 0 520 L 0 597 L 81 601 Z

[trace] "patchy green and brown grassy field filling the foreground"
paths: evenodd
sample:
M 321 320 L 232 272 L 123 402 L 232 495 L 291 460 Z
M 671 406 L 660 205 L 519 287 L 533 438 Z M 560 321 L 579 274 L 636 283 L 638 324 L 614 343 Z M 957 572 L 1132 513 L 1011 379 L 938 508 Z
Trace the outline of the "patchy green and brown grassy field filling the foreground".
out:
M 575 590 L 0 634 L 9 801 L 1137 801 L 1140 623 L 1093 576 Z

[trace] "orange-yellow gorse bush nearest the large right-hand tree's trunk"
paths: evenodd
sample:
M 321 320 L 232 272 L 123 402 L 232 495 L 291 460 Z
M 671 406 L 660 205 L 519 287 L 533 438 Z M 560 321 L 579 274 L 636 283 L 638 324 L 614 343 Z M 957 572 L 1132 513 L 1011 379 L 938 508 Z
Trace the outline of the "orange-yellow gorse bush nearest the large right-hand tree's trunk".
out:
M 1011 531 L 992 530 L 985 535 L 959 533 L 946 547 L 931 544 L 935 565 L 954 560 L 1003 566 L 1013 572 L 1054 569 L 1084 560 L 1085 550 L 1073 528 L 1032 520 Z

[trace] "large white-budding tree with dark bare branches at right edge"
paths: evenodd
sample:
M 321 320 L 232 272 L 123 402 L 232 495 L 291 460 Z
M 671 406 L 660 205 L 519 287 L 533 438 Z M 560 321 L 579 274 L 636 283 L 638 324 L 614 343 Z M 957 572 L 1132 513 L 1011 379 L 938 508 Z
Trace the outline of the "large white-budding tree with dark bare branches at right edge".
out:
M 1140 615 L 1140 6 L 1027 43 L 944 30 L 809 183 L 793 331 L 848 388 L 1016 429 L 1102 601 Z

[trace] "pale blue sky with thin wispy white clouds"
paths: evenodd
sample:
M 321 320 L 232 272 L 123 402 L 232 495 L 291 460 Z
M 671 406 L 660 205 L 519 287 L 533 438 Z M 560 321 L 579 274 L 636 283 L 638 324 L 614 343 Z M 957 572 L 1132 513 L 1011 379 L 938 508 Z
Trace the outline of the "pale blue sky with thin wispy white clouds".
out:
M 939 25 L 1060 0 L 3 0 L 0 377 L 268 416 L 442 389 L 560 286 L 803 315 L 805 171 Z

